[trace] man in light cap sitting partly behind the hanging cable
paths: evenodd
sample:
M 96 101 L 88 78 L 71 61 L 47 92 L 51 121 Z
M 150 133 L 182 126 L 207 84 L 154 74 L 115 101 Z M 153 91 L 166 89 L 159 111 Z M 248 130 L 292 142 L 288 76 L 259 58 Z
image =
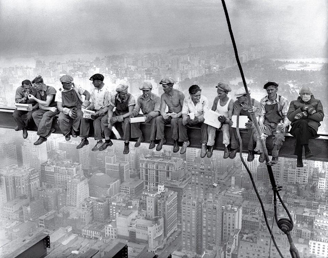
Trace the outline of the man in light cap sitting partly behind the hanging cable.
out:
M 251 90 L 248 89 L 248 92 L 251 94 Z M 251 113 L 255 113 L 255 116 L 259 116 L 260 111 L 260 103 L 251 98 L 251 104 L 249 105 L 249 99 L 247 97 L 247 93 L 244 87 L 241 87 L 235 91 L 235 96 L 237 100 L 234 103 L 234 111 L 233 115 L 245 115 L 248 117 L 248 122 L 245 124 L 247 129 L 239 129 L 239 130 L 247 130 L 248 134 L 248 157 L 247 161 L 252 162 L 254 160 L 254 148 L 256 142 L 254 142 L 254 133 L 256 132 L 256 127 L 253 125 L 251 121 Z M 230 127 L 230 135 L 231 135 L 231 149 L 230 149 L 230 158 L 235 158 L 236 153 L 239 151 L 239 140 L 237 136 L 236 128 Z

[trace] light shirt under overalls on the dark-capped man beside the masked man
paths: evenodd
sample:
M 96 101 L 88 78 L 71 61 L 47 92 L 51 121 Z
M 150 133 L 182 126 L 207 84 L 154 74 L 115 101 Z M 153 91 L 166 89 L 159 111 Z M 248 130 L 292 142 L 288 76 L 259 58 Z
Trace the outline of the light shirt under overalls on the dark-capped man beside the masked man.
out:
M 280 101 L 279 101 L 279 96 L 277 94 L 277 97 L 276 99 L 271 102 L 269 100 L 269 97 L 268 95 L 263 97 L 261 99 L 261 110 L 260 110 L 260 118 L 259 118 L 259 122 L 262 122 L 264 123 L 264 120 L 265 120 L 265 105 L 274 105 L 274 104 L 278 104 L 278 112 L 279 114 L 281 115 L 282 117 L 282 120 L 283 120 L 283 124 L 285 125 L 285 127 L 289 126 L 291 121 L 288 120 L 287 118 L 287 112 L 288 112 L 288 109 L 289 109 L 289 100 L 287 100 L 287 98 L 283 97 L 283 96 L 280 96 Z

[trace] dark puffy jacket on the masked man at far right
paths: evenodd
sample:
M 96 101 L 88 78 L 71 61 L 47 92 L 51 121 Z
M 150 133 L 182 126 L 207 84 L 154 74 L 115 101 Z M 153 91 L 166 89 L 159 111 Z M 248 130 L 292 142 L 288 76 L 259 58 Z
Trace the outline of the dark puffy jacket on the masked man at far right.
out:
M 318 131 L 318 128 L 320 126 L 320 122 L 323 120 L 324 114 L 323 114 L 323 108 L 321 101 L 316 100 L 314 96 L 311 96 L 311 100 L 305 104 L 305 102 L 302 101 L 302 98 L 299 96 L 296 101 L 292 101 L 291 104 L 289 105 L 289 110 L 287 112 L 287 117 L 288 119 L 292 122 L 292 126 L 294 124 L 295 120 L 295 115 L 302 112 L 301 108 L 303 106 L 312 106 L 317 110 L 317 112 L 313 115 L 309 115 L 306 120 L 308 120 L 309 126 L 312 127 L 313 129 Z M 301 118 L 303 119 L 303 118 Z

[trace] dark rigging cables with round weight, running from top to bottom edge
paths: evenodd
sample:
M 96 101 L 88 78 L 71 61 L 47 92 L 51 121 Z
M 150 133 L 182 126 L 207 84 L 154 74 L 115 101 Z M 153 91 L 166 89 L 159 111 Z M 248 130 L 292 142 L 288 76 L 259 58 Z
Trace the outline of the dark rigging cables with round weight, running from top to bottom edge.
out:
M 232 45 L 233 45 L 233 48 L 234 48 L 235 57 L 236 57 L 237 65 L 238 65 L 238 68 L 239 68 L 239 72 L 240 72 L 240 75 L 241 75 L 241 78 L 242 78 L 242 83 L 243 83 L 243 86 L 244 86 L 245 91 L 247 93 L 247 97 L 248 97 L 250 108 L 253 108 L 252 107 L 251 96 L 250 96 L 250 93 L 248 91 L 247 83 L 245 81 L 245 77 L 244 77 L 244 74 L 243 74 L 243 71 L 242 71 L 242 67 L 241 67 L 241 63 L 240 63 L 240 60 L 239 60 L 237 46 L 236 46 L 236 42 L 235 42 L 234 35 L 233 35 L 233 32 L 232 32 L 232 27 L 231 27 L 231 23 L 230 23 L 228 9 L 227 9 L 227 6 L 226 6 L 225 1 L 224 0 L 221 0 L 221 2 L 222 2 L 224 14 L 226 15 L 227 24 L 228 24 L 228 28 L 229 28 L 229 33 L 230 33 Z M 247 164 L 245 163 L 245 161 L 243 160 L 243 157 L 242 157 L 242 139 L 241 139 L 240 133 L 239 133 L 239 113 L 237 114 L 237 128 L 236 128 L 236 130 L 237 130 L 237 135 L 238 135 L 238 138 L 239 138 L 239 147 L 240 147 L 239 154 L 240 154 L 240 159 L 241 159 L 242 164 L 246 168 L 246 170 L 247 170 L 247 172 L 248 172 L 248 174 L 249 174 L 249 176 L 251 178 L 251 181 L 252 181 L 254 190 L 255 190 L 256 195 L 258 197 L 258 200 L 259 200 L 259 202 L 261 204 L 261 208 L 262 208 L 262 211 L 263 211 L 263 216 L 264 216 L 265 224 L 267 224 L 268 230 L 269 230 L 269 232 L 271 234 L 271 237 L 272 237 L 272 241 L 273 241 L 273 243 L 274 243 L 277 251 L 279 252 L 280 256 L 283 258 L 283 255 L 282 255 L 281 251 L 279 250 L 279 248 L 277 246 L 277 243 L 275 241 L 275 238 L 274 238 L 274 235 L 272 233 L 272 230 L 270 229 L 270 225 L 268 223 L 268 219 L 267 219 L 267 215 L 265 213 L 264 205 L 263 205 L 263 202 L 261 200 L 261 197 L 260 197 L 260 195 L 259 195 L 259 193 L 257 191 L 256 185 L 255 185 L 255 182 L 254 182 L 253 175 L 252 175 L 250 169 L 248 168 Z M 250 116 L 251 116 L 251 120 L 253 122 L 253 125 L 255 125 L 255 127 L 256 127 L 256 130 L 258 132 L 258 135 L 260 135 L 260 132 L 261 131 L 260 131 L 259 124 L 258 124 L 258 122 L 256 120 L 256 117 L 255 117 L 254 112 L 253 113 L 250 113 Z M 264 155 L 265 155 L 265 160 L 267 161 L 266 162 L 267 163 L 267 169 L 268 169 L 268 173 L 269 173 L 269 177 L 270 177 L 270 182 L 271 182 L 271 185 L 272 185 L 272 190 L 273 190 L 273 193 L 274 193 L 274 196 L 273 196 L 274 197 L 274 207 L 275 207 L 274 219 L 276 220 L 279 229 L 281 231 L 283 231 L 287 235 L 287 237 L 288 237 L 288 241 L 290 243 L 290 253 L 291 253 L 292 257 L 293 258 L 298 258 L 299 257 L 298 250 L 295 247 L 295 245 L 293 243 L 293 240 L 292 240 L 292 237 L 291 237 L 291 234 L 290 234 L 290 231 L 293 229 L 293 226 L 294 226 L 293 219 L 292 219 L 292 216 L 291 216 L 289 210 L 285 206 L 285 204 L 284 204 L 284 202 L 283 202 L 283 200 L 282 200 L 282 198 L 281 198 L 281 196 L 279 194 L 279 190 L 281 189 L 281 187 L 280 186 L 277 186 L 277 184 L 276 184 L 275 177 L 274 177 L 274 174 L 273 174 L 273 171 L 272 171 L 272 167 L 271 167 L 272 164 L 271 164 L 271 162 L 269 160 L 269 154 L 268 154 L 267 147 L 265 146 L 264 138 L 263 137 L 260 137 L 260 138 L 261 138 L 262 149 L 263 149 L 263 152 L 264 152 Z M 277 196 L 278 196 L 278 199 L 279 199 L 282 207 L 284 208 L 284 210 L 288 214 L 289 219 L 280 219 L 280 220 L 278 220 L 277 209 L 276 209 L 277 208 Z

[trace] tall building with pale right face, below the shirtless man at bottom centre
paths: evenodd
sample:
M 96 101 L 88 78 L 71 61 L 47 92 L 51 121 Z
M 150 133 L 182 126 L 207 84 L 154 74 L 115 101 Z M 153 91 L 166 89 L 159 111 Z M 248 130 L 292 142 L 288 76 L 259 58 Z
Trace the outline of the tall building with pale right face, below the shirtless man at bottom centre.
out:
M 178 228 L 178 194 L 171 190 L 161 192 L 157 200 L 157 214 L 164 220 L 164 236 Z

